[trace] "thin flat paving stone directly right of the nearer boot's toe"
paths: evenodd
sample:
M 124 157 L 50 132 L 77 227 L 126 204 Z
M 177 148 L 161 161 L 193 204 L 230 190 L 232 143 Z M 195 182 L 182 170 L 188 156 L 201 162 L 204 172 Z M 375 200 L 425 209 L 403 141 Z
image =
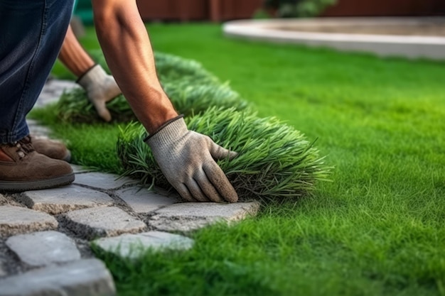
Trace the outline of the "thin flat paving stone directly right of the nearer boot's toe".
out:
M 90 187 L 100 188 L 104 190 L 116 189 L 127 184 L 136 184 L 137 181 L 128 177 L 119 175 L 105 174 L 103 172 L 85 172 L 85 174 L 77 174 L 74 184 L 86 185 Z

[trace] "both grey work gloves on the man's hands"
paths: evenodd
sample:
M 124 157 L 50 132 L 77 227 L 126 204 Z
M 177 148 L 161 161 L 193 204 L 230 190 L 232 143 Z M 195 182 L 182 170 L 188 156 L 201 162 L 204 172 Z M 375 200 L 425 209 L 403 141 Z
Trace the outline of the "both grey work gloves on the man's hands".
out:
M 114 78 L 95 65 L 77 82 L 97 113 L 111 120 L 106 103 L 121 91 Z M 189 202 L 237 202 L 238 196 L 215 160 L 235 158 L 237 153 L 218 146 L 203 134 L 189 131 L 182 116 L 163 124 L 145 141 L 168 182 Z

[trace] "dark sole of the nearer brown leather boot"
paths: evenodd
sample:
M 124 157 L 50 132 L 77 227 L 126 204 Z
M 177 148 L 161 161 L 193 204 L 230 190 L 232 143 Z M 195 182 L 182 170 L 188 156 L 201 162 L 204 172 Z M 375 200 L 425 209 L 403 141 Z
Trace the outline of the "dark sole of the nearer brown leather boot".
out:
M 23 192 L 29 190 L 41 190 L 71 184 L 75 179 L 74 172 L 53 179 L 36 181 L 0 181 L 0 191 Z

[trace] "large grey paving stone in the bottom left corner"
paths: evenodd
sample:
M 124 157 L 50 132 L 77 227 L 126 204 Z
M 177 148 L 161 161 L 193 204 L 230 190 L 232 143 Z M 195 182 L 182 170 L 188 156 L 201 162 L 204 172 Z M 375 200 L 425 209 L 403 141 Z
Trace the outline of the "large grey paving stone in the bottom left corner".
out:
M 112 296 L 112 275 L 102 261 L 85 259 L 0 280 L 0 296 Z

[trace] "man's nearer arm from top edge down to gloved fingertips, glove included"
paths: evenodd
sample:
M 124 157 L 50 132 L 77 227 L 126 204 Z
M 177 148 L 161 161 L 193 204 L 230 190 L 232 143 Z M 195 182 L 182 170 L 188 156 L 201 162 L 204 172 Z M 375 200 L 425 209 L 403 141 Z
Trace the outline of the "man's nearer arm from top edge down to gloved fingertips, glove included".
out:
M 97 37 L 109 69 L 141 124 L 168 182 L 188 201 L 237 202 L 215 159 L 236 153 L 189 131 L 156 75 L 149 35 L 135 0 L 92 0 Z

